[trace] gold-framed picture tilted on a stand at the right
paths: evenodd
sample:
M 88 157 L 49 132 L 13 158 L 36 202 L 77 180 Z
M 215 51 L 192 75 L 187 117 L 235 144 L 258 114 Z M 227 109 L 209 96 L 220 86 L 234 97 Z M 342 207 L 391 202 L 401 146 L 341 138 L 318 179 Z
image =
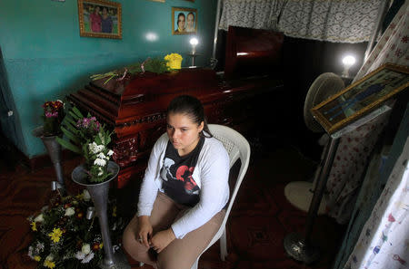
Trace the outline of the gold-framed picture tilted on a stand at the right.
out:
M 409 87 L 409 67 L 386 63 L 321 102 L 311 112 L 329 134 L 380 107 Z

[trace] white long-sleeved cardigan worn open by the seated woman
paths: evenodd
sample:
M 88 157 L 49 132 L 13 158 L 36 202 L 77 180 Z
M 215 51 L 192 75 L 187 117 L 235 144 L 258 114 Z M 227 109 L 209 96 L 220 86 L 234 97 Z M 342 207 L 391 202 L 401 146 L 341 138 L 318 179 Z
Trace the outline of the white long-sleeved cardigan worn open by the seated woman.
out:
M 150 216 L 157 191 L 163 192 L 160 171 L 164 165 L 168 141 L 165 133 L 157 139 L 152 149 L 141 186 L 137 216 Z M 187 233 L 203 226 L 223 209 L 229 199 L 229 169 L 229 156 L 223 144 L 217 139 L 205 138 L 192 175 L 200 187 L 200 201 L 172 225 L 176 238 L 183 238 Z

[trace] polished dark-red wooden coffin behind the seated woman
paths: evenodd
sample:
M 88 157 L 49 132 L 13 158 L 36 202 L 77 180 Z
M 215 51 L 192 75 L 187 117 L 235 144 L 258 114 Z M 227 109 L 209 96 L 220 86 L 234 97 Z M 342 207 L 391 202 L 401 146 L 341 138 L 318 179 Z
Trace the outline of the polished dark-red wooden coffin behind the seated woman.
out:
M 234 60 L 238 66 L 249 62 L 251 55 L 257 58 L 255 62 L 263 58 L 267 60 L 263 75 L 254 67 L 256 73 L 248 75 L 247 72 L 247 76 L 231 80 L 205 68 L 184 68 L 162 74 L 145 72 L 128 75 L 120 81 L 105 83 L 106 79 L 102 79 L 90 82 L 68 97 L 80 110 L 89 111 L 115 130 L 113 158 L 121 167 L 117 187 L 124 187 L 131 178 L 138 180 L 143 175 L 155 140 L 165 132 L 166 107 L 177 95 L 195 96 L 204 104 L 209 123 L 231 126 L 242 133 L 259 122 L 265 124 L 266 118 L 272 120 L 271 115 L 280 114 L 274 111 L 274 107 L 282 102 L 277 91 L 282 90 L 283 85 L 271 72 L 270 63 L 272 59 L 274 64 L 277 62 L 283 39 L 280 34 L 268 33 L 274 35 L 270 39 L 274 45 L 266 46 L 266 32 L 257 30 L 257 34 L 250 35 L 253 42 L 246 42 L 244 46 L 241 42 L 249 32 L 245 28 L 236 29 L 234 36 L 240 36 L 237 46 L 229 43 L 227 48 L 229 55 L 232 49 L 237 52 L 237 48 L 241 53 L 248 52 L 245 61 L 241 60 L 241 55 Z M 256 36 L 260 37 L 259 44 Z M 263 49 L 260 49 L 261 43 Z M 267 57 L 268 48 L 272 56 Z M 229 63 L 230 75 L 236 69 L 235 63 Z

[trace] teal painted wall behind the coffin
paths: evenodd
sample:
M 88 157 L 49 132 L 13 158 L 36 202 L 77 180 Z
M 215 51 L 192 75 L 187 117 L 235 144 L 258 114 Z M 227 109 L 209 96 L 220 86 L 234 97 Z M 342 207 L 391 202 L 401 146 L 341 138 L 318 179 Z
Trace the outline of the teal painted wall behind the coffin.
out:
M 196 64 L 209 64 L 213 48 L 216 0 L 117 0 L 122 5 L 122 40 L 80 37 L 77 1 L 0 1 L 0 46 L 11 97 L 24 141 L 16 145 L 29 158 L 45 153 L 31 130 L 42 125 L 44 101 L 62 99 L 89 82 L 91 74 L 109 72 L 148 56 L 180 53 L 183 66 L 190 62 L 191 34 L 172 35 L 172 6 L 198 12 Z M 148 33 L 157 35 L 149 42 Z

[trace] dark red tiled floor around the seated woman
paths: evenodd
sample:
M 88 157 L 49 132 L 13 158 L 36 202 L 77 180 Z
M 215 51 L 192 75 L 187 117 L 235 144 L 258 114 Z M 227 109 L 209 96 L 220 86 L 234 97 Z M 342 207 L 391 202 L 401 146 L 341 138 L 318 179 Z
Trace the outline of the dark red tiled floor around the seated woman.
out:
M 199 268 L 331 268 L 344 227 L 326 216 L 318 217 L 314 225 L 313 241 L 322 250 L 318 262 L 295 262 L 283 246 L 285 235 L 303 231 L 306 216 L 286 201 L 284 186 L 310 178 L 314 162 L 289 145 L 258 144 L 252 149 L 251 164 L 227 224 L 227 261 L 220 260 L 216 244 L 202 255 Z M 65 178 L 77 163 L 75 159 L 65 161 Z M 26 217 L 46 204 L 54 169 L 30 172 L 19 165 L 13 172 L 0 163 L 0 170 L 0 269 L 35 268 L 35 262 L 25 255 L 30 240 Z

